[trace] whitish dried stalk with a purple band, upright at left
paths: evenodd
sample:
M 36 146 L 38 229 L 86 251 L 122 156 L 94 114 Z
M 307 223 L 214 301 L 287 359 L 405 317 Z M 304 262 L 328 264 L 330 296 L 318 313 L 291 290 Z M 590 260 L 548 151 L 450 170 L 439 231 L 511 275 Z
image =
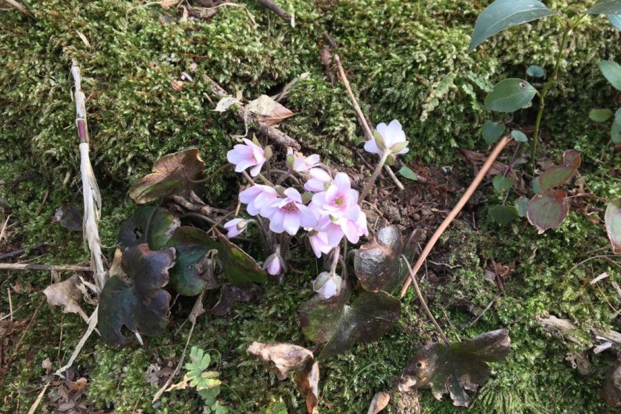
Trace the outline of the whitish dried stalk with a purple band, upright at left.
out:
M 82 177 L 82 194 L 84 199 L 84 215 L 82 220 L 82 234 L 84 243 L 90 251 L 90 265 L 92 267 L 95 285 L 101 293 L 106 284 L 106 272 L 103 270 L 103 255 L 97 222 L 101 214 L 101 195 L 95 174 L 92 172 L 90 157 L 88 156 L 88 126 L 86 124 L 86 97 L 81 88 L 80 68 L 75 59 L 72 60 L 71 75 L 75 81 L 75 124 L 80 139 L 80 174 Z

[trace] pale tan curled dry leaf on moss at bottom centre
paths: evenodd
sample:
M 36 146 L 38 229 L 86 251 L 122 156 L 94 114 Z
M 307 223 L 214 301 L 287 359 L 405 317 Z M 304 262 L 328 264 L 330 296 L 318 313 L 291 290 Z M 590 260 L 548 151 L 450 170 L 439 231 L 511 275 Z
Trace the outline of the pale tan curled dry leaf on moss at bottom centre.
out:
M 247 352 L 259 358 L 270 373 L 285 380 L 292 371 L 303 371 L 313 360 L 313 353 L 293 344 L 262 344 L 253 342 Z

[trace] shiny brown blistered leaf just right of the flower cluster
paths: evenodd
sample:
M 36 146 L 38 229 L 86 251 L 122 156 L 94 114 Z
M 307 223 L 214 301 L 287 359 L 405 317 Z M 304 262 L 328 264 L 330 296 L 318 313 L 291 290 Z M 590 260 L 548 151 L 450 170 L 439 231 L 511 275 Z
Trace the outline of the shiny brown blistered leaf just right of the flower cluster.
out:
M 360 246 L 354 255 L 354 272 L 364 290 L 385 290 L 386 284 L 400 278 L 403 238 L 396 226 L 375 233 L 371 242 Z

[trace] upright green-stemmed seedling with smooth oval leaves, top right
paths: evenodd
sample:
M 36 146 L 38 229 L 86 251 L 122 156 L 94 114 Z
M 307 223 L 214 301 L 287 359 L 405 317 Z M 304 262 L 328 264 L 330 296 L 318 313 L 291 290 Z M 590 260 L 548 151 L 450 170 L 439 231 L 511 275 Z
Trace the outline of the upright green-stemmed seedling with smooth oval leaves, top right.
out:
M 555 82 L 558 81 L 560 63 L 566 52 L 566 44 L 569 40 L 569 36 L 573 32 L 573 29 L 578 26 L 578 23 L 588 14 L 606 14 L 613 26 L 620 28 L 621 0 L 599 0 L 592 8 L 573 17 L 563 16 L 559 12 L 550 10 L 544 3 L 538 0 L 495 0 L 483 10 L 477 19 L 469 51 L 473 51 L 477 46 L 494 34 L 522 23 L 528 23 L 529 21 L 551 16 L 554 16 L 559 23 L 561 40 L 558 54 L 555 58 L 555 65 L 552 68 L 551 75 L 546 79 L 542 88 L 535 88 L 535 86 L 531 85 L 526 79 L 503 79 L 493 86 L 491 92 L 489 92 L 485 98 L 485 106 L 490 110 L 495 112 L 515 112 L 531 106 L 535 96 L 538 97 L 535 129 L 531 139 L 530 161 L 533 173 L 535 172 L 535 157 L 537 156 L 537 145 L 540 136 L 542 116 L 546 106 L 546 96 Z M 602 71 L 603 70 L 604 69 L 602 69 Z M 611 70 L 611 72 L 615 72 L 615 70 Z M 529 66 L 526 70 L 526 75 L 531 78 L 544 79 L 546 77 L 546 70 L 540 66 L 533 65 Z M 621 78 L 617 80 L 621 82 Z M 613 81 L 611 81 L 611 83 L 613 83 L 613 86 L 615 85 Z M 597 116 L 597 114 L 595 115 Z M 615 125 L 617 126 L 615 127 Z M 618 124 L 613 124 L 613 128 L 617 128 L 618 130 Z M 493 144 L 493 142 L 500 138 L 503 132 L 502 126 L 497 122 L 488 121 L 483 127 L 483 136 L 488 144 Z M 617 134 L 619 134 L 618 131 Z M 520 135 L 520 139 L 517 139 L 517 137 L 515 137 L 515 139 L 520 141 L 520 139 L 524 139 L 524 137 Z

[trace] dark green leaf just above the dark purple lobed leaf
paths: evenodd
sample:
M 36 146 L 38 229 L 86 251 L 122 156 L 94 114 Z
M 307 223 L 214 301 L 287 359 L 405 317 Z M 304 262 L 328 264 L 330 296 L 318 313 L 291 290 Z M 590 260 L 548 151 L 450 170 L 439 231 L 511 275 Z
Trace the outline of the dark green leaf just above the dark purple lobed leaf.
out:
M 139 206 L 121 226 L 119 246 L 125 250 L 146 243 L 151 250 L 159 250 L 180 225 L 179 219 L 164 208 Z

